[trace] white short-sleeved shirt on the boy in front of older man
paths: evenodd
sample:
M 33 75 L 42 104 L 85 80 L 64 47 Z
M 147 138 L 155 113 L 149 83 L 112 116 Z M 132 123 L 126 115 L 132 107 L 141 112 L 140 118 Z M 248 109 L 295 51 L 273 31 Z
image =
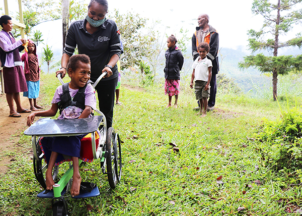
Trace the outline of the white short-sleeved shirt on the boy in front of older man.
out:
M 207 82 L 208 78 L 209 78 L 208 68 L 213 67 L 212 62 L 208 58 L 204 58 L 203 60 L 198 62 L 199 59 L 200 59 L 200 56 L 195 59 L 195 61 L 193 62 L 193 65 L 192 65 L 192 68 L 195 69 L 194 80 L 195 81 L 196 80 L 202 80 L 202 81 Z

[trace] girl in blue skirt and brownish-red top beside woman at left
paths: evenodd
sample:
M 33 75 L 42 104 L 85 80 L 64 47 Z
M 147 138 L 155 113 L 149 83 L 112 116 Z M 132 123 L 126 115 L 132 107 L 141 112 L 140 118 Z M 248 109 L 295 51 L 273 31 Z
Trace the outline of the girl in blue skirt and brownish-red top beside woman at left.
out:
M 28 52 L 25 52 L 21 57 L 22 62 L 24 62 L 24 73 L 28 89 L 28 91 L 23 92 L 23 96 L 28 97 L 32 111 L 39 111 L 38 109 L 43 109 L 43 107 L 37 104 L 37 97 L 40 92 L 40 68 L 36 54 L 37 46 L 34 41 L 29 40 L 27 48 Z

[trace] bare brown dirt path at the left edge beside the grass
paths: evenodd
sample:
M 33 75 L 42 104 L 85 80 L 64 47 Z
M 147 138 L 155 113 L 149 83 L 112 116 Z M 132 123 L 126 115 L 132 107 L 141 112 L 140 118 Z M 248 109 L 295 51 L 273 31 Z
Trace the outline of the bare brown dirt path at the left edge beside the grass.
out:
M 20 93 L 21 103 L 24 109 L 29 109 L 27 97 L 23 97 Z M 26 118 L 28 113 L 22 113 L 21 118 L 9 117 L 10 109 L 5 94 L 0 94 L 0 174 L 5 173 L 8 169 L 7 165 L 14 160 L 15 154 L 22 149 L 19 144 L 20 132 L 24 131 L 26 126 Z

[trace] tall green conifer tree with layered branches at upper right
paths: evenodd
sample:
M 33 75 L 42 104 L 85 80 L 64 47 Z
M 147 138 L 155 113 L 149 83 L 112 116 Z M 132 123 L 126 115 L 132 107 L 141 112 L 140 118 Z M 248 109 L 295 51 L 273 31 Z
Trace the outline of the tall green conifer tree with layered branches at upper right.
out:
M 278 48 L 286 46 L 302 45 L 302 37 L 299 34 L 286 42 L 280 42 L 279 36 L 286 35 L 292 27 L 299 25 L 302 20 L 302 0 L 254 0 L 252 12 L 264 18 L 262 28 L 257 32 L 251 29 L 249 35 L 249 48 L 254 52 L 257 50 L 273 50 L 273 58 L 262 54 L 246 57 L 244 62 L 239 63 L 240 68 L 257 67 L 262 72 L 273 74 L 273 98 L 277 98 L 277 76 L 292 70 L 293 67 L 301 68 L 297 59 L 300 57 L 278 58 Z M 264 40 L 263 38 L 267 38 Z

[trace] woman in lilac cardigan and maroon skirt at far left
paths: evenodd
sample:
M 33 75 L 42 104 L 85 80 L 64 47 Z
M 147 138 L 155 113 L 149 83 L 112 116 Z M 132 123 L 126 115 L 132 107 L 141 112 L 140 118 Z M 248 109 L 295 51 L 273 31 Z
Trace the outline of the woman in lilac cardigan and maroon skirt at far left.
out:
M 19 52 L 24 49 L 26 39 L 16 41 L 10 31 L 13 29 L 12 18 L 3 15 L 0 18 L 0 58 L 3 67 L 4 89 L 10 107 L 10 117 L 21 117 L 20 113 L 30 113 L 30 110 L 23 109 L 19 92 L 27 91 L 26 79 L 22 67 Z M 14 107 L 14 100 L 17 110 Z

